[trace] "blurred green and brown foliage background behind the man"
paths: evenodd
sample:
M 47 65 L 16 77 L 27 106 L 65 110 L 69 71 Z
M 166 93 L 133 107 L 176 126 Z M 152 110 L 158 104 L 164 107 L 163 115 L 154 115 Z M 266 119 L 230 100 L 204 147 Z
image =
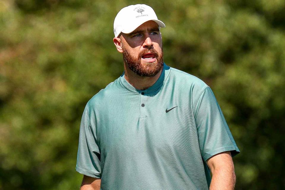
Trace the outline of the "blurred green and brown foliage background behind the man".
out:
M 113 20 L 137 3 L 166 24 L 165 63 L 213 89 L 236 189 L 285 189 L 284 0 L 0 0 L 0 189 L 79 189 L 81 116 L 123 72 Z

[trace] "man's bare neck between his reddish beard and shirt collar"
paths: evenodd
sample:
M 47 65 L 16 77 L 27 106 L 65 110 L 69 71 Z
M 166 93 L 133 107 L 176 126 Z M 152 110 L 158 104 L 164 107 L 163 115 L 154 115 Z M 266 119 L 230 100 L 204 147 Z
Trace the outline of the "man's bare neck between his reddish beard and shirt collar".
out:
M 154 75 L 153 77 L 141 77 L 137 74 L 135 74 L 132 70 L 129 69 L 126 64 L 124 64 L 124 69 L 125 69 L 125 79 L 130 83 L 134 88 L 138 90 L 145 90 L 149 87 L 151 87 L 159 78 L 162 69 Z

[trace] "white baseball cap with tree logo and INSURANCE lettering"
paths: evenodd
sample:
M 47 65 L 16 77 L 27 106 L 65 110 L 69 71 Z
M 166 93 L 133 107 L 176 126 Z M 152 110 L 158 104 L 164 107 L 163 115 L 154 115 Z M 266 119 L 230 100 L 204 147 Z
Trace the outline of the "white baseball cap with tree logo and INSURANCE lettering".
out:
M 149 20 L 153 20 L 160 27 L 165 27 L 165 24 L 157 19 L 154 10 L 148 5 L 136 4 L 124 7 L 114 20 L 115 37 L 118 37 L 121 32 L 129 34 Z

